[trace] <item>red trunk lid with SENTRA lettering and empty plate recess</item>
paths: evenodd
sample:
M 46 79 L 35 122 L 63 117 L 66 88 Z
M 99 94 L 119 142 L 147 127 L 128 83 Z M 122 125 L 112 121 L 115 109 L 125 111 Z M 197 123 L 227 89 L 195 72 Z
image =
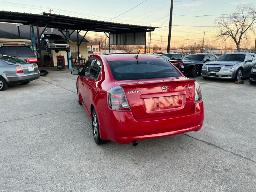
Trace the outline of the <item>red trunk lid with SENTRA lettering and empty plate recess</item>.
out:
M 195 80 L 186 78 L 116 82 L 123 89 L 135 118 L 190 111 L 195 101 Z

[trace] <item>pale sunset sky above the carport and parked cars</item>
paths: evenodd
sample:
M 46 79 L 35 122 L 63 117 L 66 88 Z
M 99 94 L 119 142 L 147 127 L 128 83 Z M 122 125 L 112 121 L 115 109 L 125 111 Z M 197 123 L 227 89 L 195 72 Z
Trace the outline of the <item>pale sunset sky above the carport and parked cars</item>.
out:
M 224 14 L 233 13 L 236 5 L 241 3 L 252 3 L 256 7 L 255 0 L 174 0 L 171 47 L 179 47 L 182 44 L 186 46 L 187 42 L 188 45 L 195 42 L 198 44 L 203 40 L 204 31 L 204 43 L 215 44 L 214 20 Z M 168 40 L 170 7 L 171 0 L 0 0 L 1 11 L 40 14 L 49 12 L 51 8 L 53 14 L 132 25 L 152 25 L 159 28 L 151 33 L 151 46 L 157 44 L 165 47 Z M 93 35 L 93 32 L 88 32 L 87 35 Z M 104 33 L 102 35 L 105 36 Z M 250 40 L 253 46 L 255 35 L 252 34 Z M 218 43 L 215 46 L 221 48 L 224 45 Z

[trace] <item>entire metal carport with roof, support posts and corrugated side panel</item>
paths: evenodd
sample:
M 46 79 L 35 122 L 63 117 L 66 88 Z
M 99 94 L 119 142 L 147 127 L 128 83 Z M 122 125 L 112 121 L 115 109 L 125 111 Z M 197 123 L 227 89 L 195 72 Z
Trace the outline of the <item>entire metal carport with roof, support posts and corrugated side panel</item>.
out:
M 148 27 L 148 26 L 139 26 L 139 25 L 128 25 L 128 24 L 122 24 L 122 23 L 83 19 L 83 18 L 70 17 L 70 16 L 64 16 L 64 15 L 56 15 L 56 14 L 46 13 L 46 12 L 43 12 L 42 14 L 32 14 L 32 13 L 0 11 L 0 22 L 21 23 L 24 25 L 36 26 L 37 30 L 38 30 L 38 27 L 44 27 L 44 29 L 46 27 L 58 28 L 59 30 L 66 30 L 66 36 L 68 36 L 69 34 L 67 33 L 67 30 L 73 30 L 71 34 L 76 30 L 78 53 L 79 53 L 79 45 L 82 42 L 81 41 L 79 43 L 78 33 L 82 30 L 86 31 L 86 33 L 84 34 L 84 37 L 88 31 L 103 32 L 106 34 L 106 36 L 108 36 L 107 33 L 109 33 L 110 35 L 108 36 L 109 49 L 110 49 L 110 44 L 112 45 L 116 45 L 116 44 L 143 45 L 144 44 L 145 46 L 144 50 L 146 52 L 146 33 L 150 31 L 154 31 L 156 28 L 151 26 Z M 126 34 L 129 34 L 129 35 L 126 35 Z M 39 31 L 37 31 L 37 35 L 39 35 Z M 38 36 L 38 40 L 39 40 L 39 36 Z M 34 40 L 32 40 L 32 43 L 33 43 L 33 46 L 35 46 Z M 39 54 L 41 58 L 41 67 L 42 67 L 42 56 L 41 56 L 40 48 L 39 48 Z M 78 60 L 79 60 L 79 57 L 78 57 Z M 70 63 L 71 62 L 69 61 L 69 65 L 71 65 Z

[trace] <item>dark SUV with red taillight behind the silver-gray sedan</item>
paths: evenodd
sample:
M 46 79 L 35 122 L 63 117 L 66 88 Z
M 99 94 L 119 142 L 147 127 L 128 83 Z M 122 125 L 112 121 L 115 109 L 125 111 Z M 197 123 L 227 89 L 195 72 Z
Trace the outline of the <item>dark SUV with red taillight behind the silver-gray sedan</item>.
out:
M 0 55 L 9 55 L 17 57 L 28 63 L 37 63 L 36 54 L 33 50 L 25 45 L 3 44 L 0 45 Z

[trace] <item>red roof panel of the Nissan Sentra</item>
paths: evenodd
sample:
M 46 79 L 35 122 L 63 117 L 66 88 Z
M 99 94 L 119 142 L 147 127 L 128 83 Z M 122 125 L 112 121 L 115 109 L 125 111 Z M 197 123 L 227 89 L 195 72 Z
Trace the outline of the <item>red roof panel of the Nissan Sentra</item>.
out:
M 158 55 L 154 54 L 134 54 L 134 53 L 114 53 L 114 54 L 104 54 L 104 55 L 94 55 L 104 57 L 108 61 L 117 61 L 117 60 L 134 60 L 138 56 L 139 60 L 152 60 L 152 59 L 161 59 L 161 57 L 156 57 Z

